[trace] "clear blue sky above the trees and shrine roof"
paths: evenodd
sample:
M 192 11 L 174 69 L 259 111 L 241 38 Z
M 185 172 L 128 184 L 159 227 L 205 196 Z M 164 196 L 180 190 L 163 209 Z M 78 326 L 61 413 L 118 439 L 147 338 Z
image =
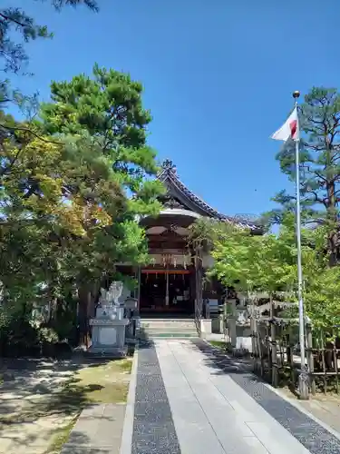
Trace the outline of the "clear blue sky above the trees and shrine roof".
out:
M 294 90 L 339 85 L 338 0 L 99 0 L 99 14 L 57 14 L 49 0 L 2 3 L 54 33 L 27 46 L 34 76 L 16 86 L 46 100 L 52 79 L 90 74 L 95 62 L 129 72 L 144 85 L 159 158 L 226 214 L 267 211 L 291 187 L 268 137 Z

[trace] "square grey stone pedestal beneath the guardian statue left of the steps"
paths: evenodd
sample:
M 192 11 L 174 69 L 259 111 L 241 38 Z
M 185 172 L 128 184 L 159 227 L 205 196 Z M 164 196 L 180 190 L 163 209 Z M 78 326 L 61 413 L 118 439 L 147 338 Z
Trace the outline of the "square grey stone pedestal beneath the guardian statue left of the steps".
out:
M 124 318 L 112 320 L 103 316 L 92 319 L 92 344 L 88 352 L 112 357 L 126 356 L 125 328 L 128 323 L 129 320 Z

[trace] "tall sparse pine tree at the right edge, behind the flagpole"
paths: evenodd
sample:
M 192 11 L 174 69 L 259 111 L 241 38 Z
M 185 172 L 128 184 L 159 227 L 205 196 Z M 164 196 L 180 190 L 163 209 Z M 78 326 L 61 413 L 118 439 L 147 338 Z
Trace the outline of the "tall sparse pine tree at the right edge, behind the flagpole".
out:
M 338 243 L 338 203 L 340 196 L 340 96 L 335 89 L 313 88 L 299 106 L 304 132 L 300 146 L 300 194 L 302 219 L 327 226 L 329 264 L 334 265 Z M 295 181 L 295 145 L 287 143 L 278 154 L 282 172 Z M 284 212 L 293 212 L 296 197 L 281 191 L 274 198 L 282 205 L 269 213 L 271 222 L 280 223 Z

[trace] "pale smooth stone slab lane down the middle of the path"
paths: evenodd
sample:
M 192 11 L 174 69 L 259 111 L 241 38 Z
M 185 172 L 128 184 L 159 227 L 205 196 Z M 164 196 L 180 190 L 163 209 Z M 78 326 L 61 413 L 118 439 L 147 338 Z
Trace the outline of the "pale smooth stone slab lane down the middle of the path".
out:
M 267 434 L 275 434 L 280 447 L 287 452 L 307 453 L 275 419 L 267 414 L 245 390 L 219 370 L 187 341 L 157 344 L 160 369 L 170 400 L 170 407 L 182 452 L 224 452 L 228 454 L 280 454 L 268 446 Z M 174 385 L 181 374 L 187 393 L 182 400 Z M 238 405 L 233 405 L 238 402 Z M 251 429 L 248 420 L 260 422 L 261 432 Z M 268 449 L 269 448 L 269 449 Z M 283 452 L 283 451 L 282 451 Z

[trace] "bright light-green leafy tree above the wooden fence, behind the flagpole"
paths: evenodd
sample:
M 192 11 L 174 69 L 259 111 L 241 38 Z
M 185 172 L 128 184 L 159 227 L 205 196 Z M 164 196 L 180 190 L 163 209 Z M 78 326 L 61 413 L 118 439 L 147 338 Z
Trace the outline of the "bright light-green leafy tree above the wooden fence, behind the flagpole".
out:
M 304 301 L 315 328 L 329 330 L 340 324 L 340 267 L 329 267 L 325 256 L 327 226 L 302 230 Z M 286 213 L 278 235 L 252 236 L 248 230 L 199 220 L 191 242 L 204 244 L 214 258 L 209 273 L 238 291 L 296 292 L 295 217 Z M 296 315 L 297 316 L 297 315 Z

